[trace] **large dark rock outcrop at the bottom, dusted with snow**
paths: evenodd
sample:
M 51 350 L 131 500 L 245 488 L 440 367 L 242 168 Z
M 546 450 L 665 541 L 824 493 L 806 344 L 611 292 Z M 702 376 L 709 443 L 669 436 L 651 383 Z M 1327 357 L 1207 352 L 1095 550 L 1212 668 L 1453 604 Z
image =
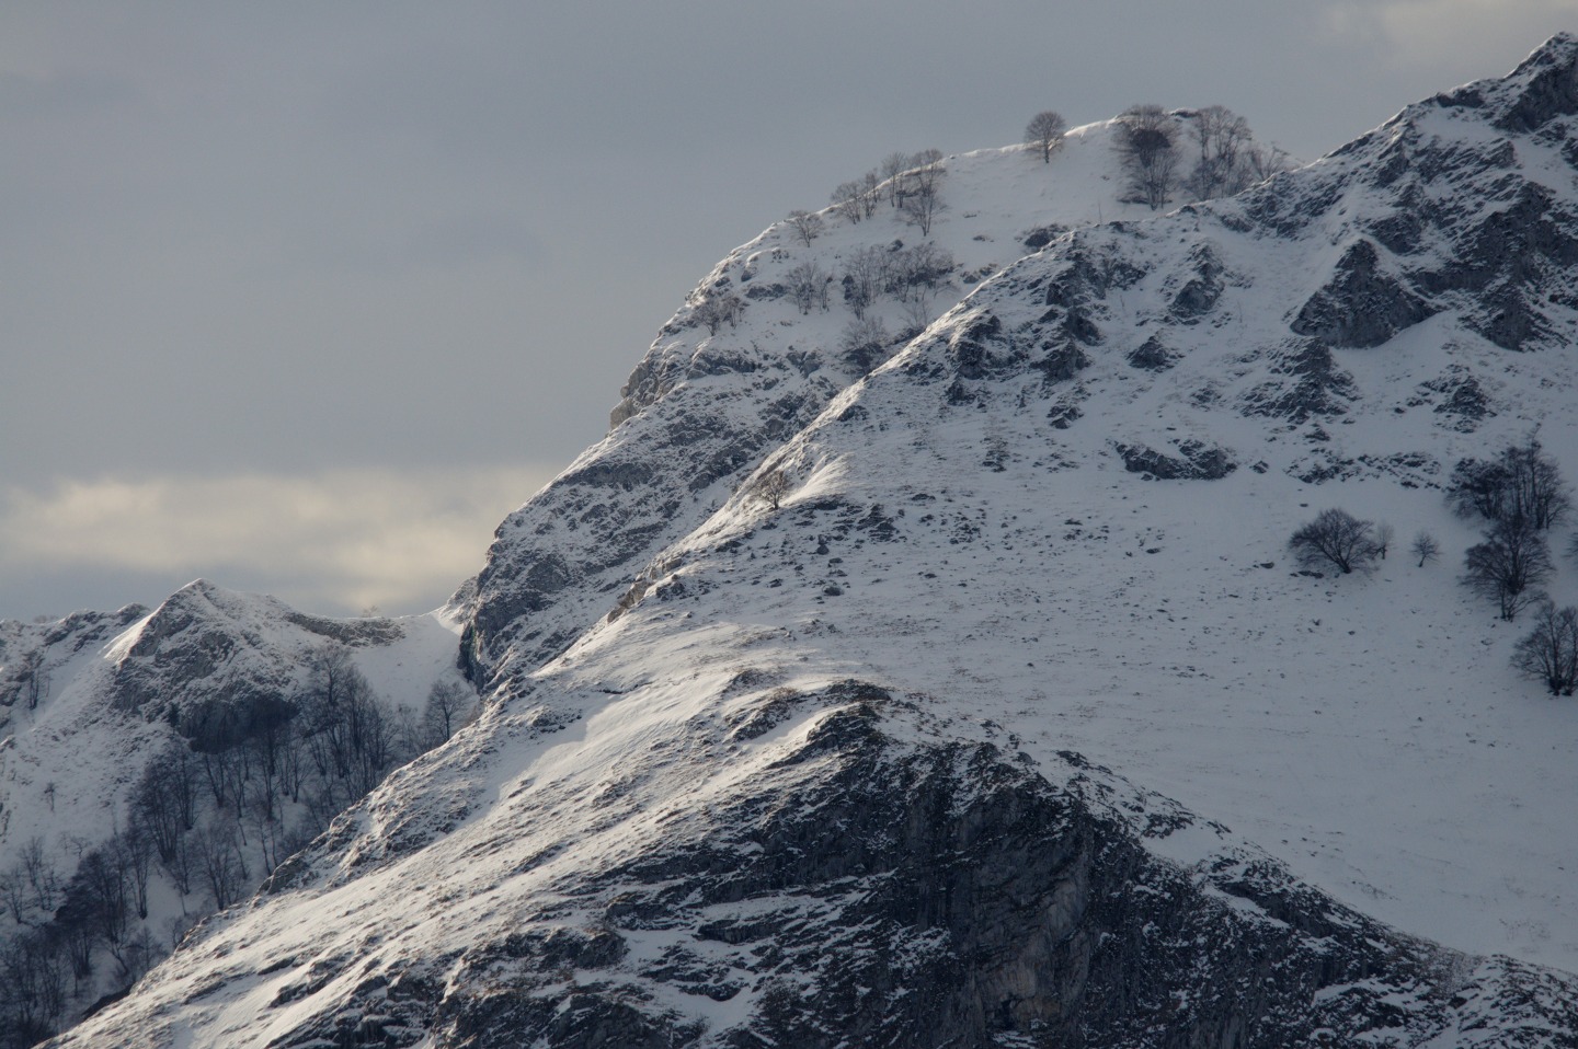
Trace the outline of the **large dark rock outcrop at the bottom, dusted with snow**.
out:
M 881 688 L 822 702 L 732 804 L 562 880 L 500 942 L 385 964 L 276 1044 L 1420 1044 L 1488 986 L 1498 1044 L 1534 1046 L 1575 999 L 1553 973 L 1474 973 L 1262 855 L 1158 860 L 1075 754 L 1054 784 L 991 745 L 899 741 L 881 711 L 909 713 Z M 1152 817 L 1154 836 L 1193 823 Z M 704 1019 L 712 1002 L 732 1019 Z

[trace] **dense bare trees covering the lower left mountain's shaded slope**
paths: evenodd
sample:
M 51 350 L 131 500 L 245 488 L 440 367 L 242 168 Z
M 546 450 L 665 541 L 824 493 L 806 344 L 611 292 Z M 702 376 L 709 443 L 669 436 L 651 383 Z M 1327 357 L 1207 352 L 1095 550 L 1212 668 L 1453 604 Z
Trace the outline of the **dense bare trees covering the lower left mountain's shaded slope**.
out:
M 62 877 L 32 839 L 0 871 L 0 1049 L 52 1033 L 73 1003 L 128 986 L 197 918 L 251 893 L 396 763 L 447 741 L 475 710 L 459 680 L 424 708 L 379 699 L 349 650 L 306 661 L 300 692 L 189 711 L 180 740 L 148 762 L 110 838 L 65 842 Z M 69 868 L 68 868 L 69 869 Z M 148 928 L 150 885 L 180 901 L 167 937 Z M 112 969 L 101 970 L 103 962 Z

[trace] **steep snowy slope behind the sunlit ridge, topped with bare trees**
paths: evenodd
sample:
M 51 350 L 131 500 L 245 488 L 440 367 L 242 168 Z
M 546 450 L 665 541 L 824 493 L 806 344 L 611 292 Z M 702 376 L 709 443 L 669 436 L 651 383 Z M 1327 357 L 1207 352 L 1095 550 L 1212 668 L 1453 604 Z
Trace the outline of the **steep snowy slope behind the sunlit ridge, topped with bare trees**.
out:
M 1172 121 L 1187 156 L 1198 115 Z M 488 566 L 456 595 L 451 610 L 467 620 L 473 677 L 502 685 L 563 651 L 762 454 L 977 282 L 1067 229 L 1152 215 L 1124 200 L 1114 137 L 1116 121 L 1075 128 L 1046 164 L 1030 147 L 945 158 L 926 235 L 887 192 L 863 221 L 827 208 L 814 238 L 784 221 L 731 252 L 636 366 L 609 435 L 505 519 Z M 1240 148 L 1262 147 L 1245 139 Z M 885 336 L 868 330 L 851 350 L 846 278 L 865 254 L 885 270 L 879 284 L 892 284 L 888 270 L 914 260 L 917 248 L 934 251 L 929 270 L 909 295 L 876 297 L 868 319 Z M 824 289 L 808 311 L 792 293 L 797 271 Z M 709 327 L 709 303 L 729 298 L 739 312 Z

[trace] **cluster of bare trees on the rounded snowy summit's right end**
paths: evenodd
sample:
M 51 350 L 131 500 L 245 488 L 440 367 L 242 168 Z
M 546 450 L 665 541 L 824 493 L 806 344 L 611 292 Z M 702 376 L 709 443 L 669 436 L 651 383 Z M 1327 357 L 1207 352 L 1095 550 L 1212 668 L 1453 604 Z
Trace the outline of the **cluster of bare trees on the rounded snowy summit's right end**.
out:
M 1226 197 L 1288 169 L 1286 153 L 1258 145 L 1248 121 L 1223 106 L 1130 106 L 1117 118 L 1117 153 L 1125 199 L 1154 211 L 1179 192 L 1191 200 Z

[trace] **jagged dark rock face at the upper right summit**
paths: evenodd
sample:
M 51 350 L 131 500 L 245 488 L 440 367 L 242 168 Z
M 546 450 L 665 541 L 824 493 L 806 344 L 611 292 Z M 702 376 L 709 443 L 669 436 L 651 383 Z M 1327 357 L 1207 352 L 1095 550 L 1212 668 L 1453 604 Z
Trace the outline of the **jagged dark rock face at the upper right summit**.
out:
M 1575 50 L 1556 38 L 1505 80 L 1409 107 L 1338 150 L 1324 178 L 1247 196 L 1248 215 L 1278 233 L 1318 224 L 1343 245 L 1294 315 L 1297 334 L 1374 347 L 1455 311 L 1505 350 L 1570 344 Z M 1349 210 L 1356 189 L 1370 199 Z

